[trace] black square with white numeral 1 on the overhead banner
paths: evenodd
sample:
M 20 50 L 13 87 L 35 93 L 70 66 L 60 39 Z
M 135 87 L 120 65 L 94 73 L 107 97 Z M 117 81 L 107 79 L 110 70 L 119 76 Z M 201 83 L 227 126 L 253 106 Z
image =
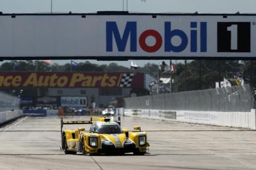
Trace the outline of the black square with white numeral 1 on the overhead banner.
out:
M 250 22 L 218 22 L 218 52 L 249 53 Z

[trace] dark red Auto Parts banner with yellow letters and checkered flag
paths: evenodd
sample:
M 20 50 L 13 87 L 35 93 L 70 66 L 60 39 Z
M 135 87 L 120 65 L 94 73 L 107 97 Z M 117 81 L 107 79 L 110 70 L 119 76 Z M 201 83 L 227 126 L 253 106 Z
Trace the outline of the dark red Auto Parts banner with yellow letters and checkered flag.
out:
M 142 73 L 1 72 L 0 87 L 143 88 Z

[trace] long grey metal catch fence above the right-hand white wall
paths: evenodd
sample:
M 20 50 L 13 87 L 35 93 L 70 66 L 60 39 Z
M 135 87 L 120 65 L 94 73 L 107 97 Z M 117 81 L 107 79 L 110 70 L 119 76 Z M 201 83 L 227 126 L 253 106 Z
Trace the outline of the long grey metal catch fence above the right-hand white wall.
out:
M 254 96 L 250 85 L 147 95 L 124 99 L 126 109 L 249 112 Z

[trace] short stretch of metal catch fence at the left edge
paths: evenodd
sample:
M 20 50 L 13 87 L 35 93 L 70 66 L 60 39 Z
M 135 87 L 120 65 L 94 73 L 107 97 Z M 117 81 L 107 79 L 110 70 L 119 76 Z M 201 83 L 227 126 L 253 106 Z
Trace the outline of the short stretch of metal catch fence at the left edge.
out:
M 0 112 L 18 110 L 20 105 L 20 99 L 7 94 L 5 92 L 0 92 Z

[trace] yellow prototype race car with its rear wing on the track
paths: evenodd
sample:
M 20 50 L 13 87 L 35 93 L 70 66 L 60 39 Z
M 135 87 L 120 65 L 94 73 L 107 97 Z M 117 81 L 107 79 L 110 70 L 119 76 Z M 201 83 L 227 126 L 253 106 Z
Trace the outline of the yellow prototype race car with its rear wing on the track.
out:
M 134 127 L 134 131 L 121 129 L 120 117 L 117 121 L 109 118 L 91 117 L 90 121 L 69 121 L 64 122 L 61 118 L 61 147 L 65 154 L 83 155 L 95 154 L 124 154 L 144 155 L 150 144 L 147 142 L 146 132 L 140 127 Z M 71 124 L 92 124 L 90 132 L 84 128 L 78 130 L 62 131 L 63 125 Z

